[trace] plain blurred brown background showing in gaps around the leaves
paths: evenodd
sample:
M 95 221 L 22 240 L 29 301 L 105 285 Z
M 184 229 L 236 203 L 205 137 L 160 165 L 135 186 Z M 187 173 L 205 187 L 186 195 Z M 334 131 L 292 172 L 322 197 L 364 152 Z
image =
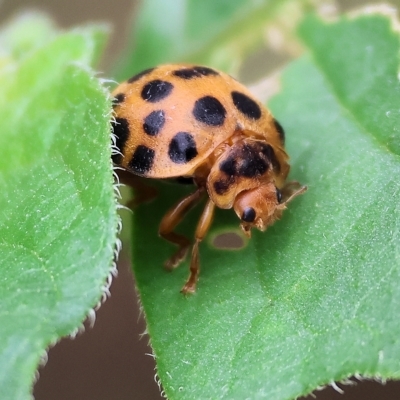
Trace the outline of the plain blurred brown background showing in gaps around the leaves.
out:
M 145 0 L 144 0 L 145 1 Z M 373 3 L 377 3 L 374 1 Z M 337 1 L 341 11 L 366 4 L 364 0 Z M 397 4 L 398 0 L 392 1 Z M 50 14 L 60 27 L 88 21 L 105 21 L 112 35 L 99 70 L 109 77 L 113 62 L 122 51 L 139 1 L 119 0 L 0 0 L 0 22 L 17 12 L 32 9 Z M 179 61 L 179 60 L 177 60 Z M 130 268 L 129 254 L 123 252 L 119 275 L 111 286 L 111 298 L 96 313 L 94 328 L 86 325 L 84 334 L 74 340 L 61 340 L 48 352 L 48 362 L 39 369 L 36 400 L 83 399 L 160 399 L 155 382 L 155 364 L 147 345 L 143 317 Z M 341 385 L 344 394 L 329 387 L 315 393 L 317 400 L 394 400 L 400 398 L 400 383 L 364 381 Z

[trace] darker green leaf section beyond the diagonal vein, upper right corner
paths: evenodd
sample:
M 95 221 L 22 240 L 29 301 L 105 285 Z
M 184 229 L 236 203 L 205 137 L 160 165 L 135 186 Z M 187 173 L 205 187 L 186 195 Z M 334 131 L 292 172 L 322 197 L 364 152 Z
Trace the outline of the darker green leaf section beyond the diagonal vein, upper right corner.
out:
M 399 106 L 393 97 L 387 94 L 394 91 L 394 96 L 400 96 L 399 87 L 399 57 L 396 51 L 399 47 L 399 36 L 392 32 L 386 40 L 382 37 L 388 30 L 385 17 L 381 23 L 376 23 L 374 30 L 369 29 L 370 20 L 367 16 L 359 19 L 357 28 L 350 23 L 342 22 L 330 26 L 330 34 L 336 37 L 327 42 L 318 21 L 310 19 L 303 25 L 301 34 L 307 45 L 314 48 L 314 59 L 329 81 L 335 82 L 334 93 L 343 107 L 348 109 L 364 129 L 391 152 L 400 155 L 400 121 Z M 364 36 L 364 38 L 362 38 Z M 337 60 L 337 53 L 343 42 L 348 41 L 346 51 L 357 62 L 346 63 Z M 361 47 L 363 39 L 366 47 Z M 324 51 L 332 46 L 332 51 Z M 346 53 L 341 52 L 342 57 Z M 385 60 L 385 62 L 378 62 Z

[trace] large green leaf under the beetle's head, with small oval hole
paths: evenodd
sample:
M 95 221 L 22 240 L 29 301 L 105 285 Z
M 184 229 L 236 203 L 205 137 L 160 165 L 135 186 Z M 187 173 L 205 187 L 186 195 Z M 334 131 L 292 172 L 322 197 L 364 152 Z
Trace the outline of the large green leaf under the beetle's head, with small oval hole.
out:
M 156 232 L 190 189 L 160 184 L 135 213 L 134 269 L 169 399 L 294 399 L 354 374 L 400 378 L 399 34 L 371 15 L 310 17 L 301 35 L 310 54 L 270 103 L 291 179 L 309 187 L 282 220 L 224 251 L 213 238 L 238 220 L 219 210 L 186 298 L 188 263 L 164 271 L 174 249 Z M 196 212 L 180 232 L 193 234 Z

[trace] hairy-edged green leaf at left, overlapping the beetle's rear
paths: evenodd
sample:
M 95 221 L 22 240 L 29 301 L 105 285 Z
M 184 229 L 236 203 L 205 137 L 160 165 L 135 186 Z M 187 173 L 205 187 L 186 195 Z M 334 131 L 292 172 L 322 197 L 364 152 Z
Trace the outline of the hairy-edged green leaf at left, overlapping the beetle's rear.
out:
M 47 40 L 20 41 L 32 26 L 47 31 Z M 106 31 L 60 34 L 50 26 L 31 16 L 0 34 L 8 60 L 0 70 L 4 399 L 30 398 L 46 348 L 92 313 L 116 241 L 110 102 L 90 70 Z

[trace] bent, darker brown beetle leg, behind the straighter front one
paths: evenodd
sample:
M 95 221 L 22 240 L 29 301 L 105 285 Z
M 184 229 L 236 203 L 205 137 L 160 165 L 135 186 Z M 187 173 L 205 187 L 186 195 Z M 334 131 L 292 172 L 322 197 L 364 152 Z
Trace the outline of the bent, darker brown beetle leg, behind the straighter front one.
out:
M 164 264 L 167 269 L 176 268 L 186 257 L 191 242 L 186 236 L 174 232 L 174 229 L 201 199 L 203 193 L 204 187 L 199 187 L 194 193 L 184 197 L 175 204 L 161 220 L 158 229 L 159 235 L 165 240 L 178 245 L 178 250 Z

